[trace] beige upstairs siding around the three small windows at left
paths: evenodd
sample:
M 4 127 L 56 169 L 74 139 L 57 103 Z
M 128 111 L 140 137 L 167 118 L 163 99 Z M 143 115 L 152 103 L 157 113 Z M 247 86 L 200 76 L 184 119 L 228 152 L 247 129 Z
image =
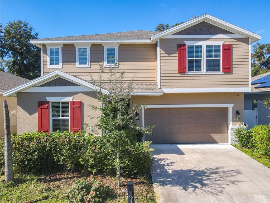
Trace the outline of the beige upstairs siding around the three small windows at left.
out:
M 119 67 L 126 70 L 127 81 L 136 75 L 135 81 L 137 82 L 156 82 L 156 49 L 156 44 L 119 45 Z M 90 73 L 94 78 L 97 78 L 99 75 L 99 62 L 104 60 L 103 52 L 104 47 L 102 44 L 92 44 L 90 47 L 90 68 L 76 68 L 75 46 L 73 44 L 64 44 L 62 47 L 63 67 L 59 70 L 87 81 L 90 80 Z M 56 69 L 48 68 L 47 47 L 43 45 L 43 73 L 48 74 Z

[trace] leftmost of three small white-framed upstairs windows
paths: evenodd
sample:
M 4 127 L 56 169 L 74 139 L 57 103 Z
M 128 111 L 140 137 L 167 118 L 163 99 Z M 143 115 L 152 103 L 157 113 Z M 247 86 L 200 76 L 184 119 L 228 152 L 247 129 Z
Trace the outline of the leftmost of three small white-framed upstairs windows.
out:
M 48 68 L 62 68 L 63 44 L 46 44 Z

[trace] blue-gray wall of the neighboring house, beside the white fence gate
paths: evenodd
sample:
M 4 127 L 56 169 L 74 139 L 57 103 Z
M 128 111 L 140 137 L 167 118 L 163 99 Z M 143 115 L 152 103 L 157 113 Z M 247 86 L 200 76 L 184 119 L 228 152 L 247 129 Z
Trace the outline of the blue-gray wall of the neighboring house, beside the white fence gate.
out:
M 252 99 L 257 99 L 258 102 L 258 125 L 270 123 L 268 118 L 270 109 L 264 106 L 264 100 L 270 98 L 269 94 L 244 94 L 244 110 L 252 110 Z

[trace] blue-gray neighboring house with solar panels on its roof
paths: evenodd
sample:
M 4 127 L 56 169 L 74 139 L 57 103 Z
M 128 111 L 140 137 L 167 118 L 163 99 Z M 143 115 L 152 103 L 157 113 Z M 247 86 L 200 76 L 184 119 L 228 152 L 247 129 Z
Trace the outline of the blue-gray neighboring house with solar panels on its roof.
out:
M 251 91 L 244 93 L 244 122 L 248 129 L 270 123 L 270 109 L 264 106 L 267 98 L 270 98 L 270 72 L 252 77 Z

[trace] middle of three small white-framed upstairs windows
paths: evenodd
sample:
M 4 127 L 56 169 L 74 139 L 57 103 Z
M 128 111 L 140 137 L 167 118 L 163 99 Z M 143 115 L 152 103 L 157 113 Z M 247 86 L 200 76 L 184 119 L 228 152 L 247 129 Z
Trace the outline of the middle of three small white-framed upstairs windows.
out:
M 74 44 L 76 48 L 76 68 L 90 68 L 91 44 Z

